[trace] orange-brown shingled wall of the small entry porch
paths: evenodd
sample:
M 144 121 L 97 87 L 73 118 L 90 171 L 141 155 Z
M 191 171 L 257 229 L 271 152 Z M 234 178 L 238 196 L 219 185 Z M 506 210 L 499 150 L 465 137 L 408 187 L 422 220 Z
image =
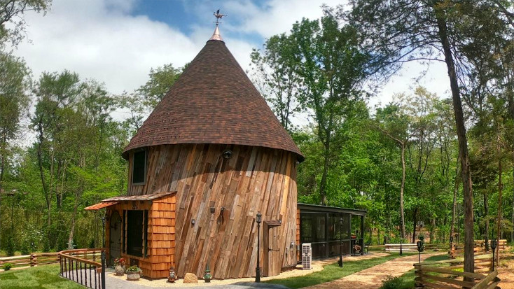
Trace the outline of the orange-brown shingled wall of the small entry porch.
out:
M 121 249 L 121 257 L 139 260 L 139 267 L 143 271 L 141 272 L 143 276 L 165 278 L 169 274 L 169 267 L 174 262 L 175 206 L 176 195 L 168 195 L 153 201 L 123 201 L 120 204 L 113 205 L 110 209 L 110 212 L 118 211 L 122 218 L 123 210 L 148 210 L 148 256 L 127 255 L 127 253 L 123 253 L 123 248 Z M 110 223 L 107 223 L 106 227 L 106 246 L 109 246 Z M 123 228 L 123 230 L 126 230 L 126 228 Z M 127 234 L 124 236 L 125 242 L 122 241 L 122 244 L 126 246 Z M 127 260 L 127 264 L 130 264 L 129 260 Z

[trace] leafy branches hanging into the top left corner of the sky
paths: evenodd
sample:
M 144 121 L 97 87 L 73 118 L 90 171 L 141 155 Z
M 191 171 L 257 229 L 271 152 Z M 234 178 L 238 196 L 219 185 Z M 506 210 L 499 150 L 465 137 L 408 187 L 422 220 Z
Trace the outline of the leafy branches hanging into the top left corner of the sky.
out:
M 51 0 L 0 0 L 0 46 L 7 40 L 18 45 L 27 25 L 23 15 L 29 10 L 46 13 L 50 3 Z M 6 24 L 12 24 L 12 28 Z

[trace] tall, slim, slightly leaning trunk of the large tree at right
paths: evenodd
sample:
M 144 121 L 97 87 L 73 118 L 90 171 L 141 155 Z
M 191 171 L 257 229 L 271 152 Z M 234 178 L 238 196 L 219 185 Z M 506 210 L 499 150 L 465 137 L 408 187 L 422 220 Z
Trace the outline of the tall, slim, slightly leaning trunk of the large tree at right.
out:
M 437 4 L 436 4 L 437 5 Z M 473 185 L 471 184 L 471 171 L 469 168 L 468 140 L 466 138 L 466 126 L 464 125 L 464 113 L 460 97 L 457 73 L 452 57 L 452 49 L 447 35 L 447 24 L 445 11 L 440 7 L 434 7 L 438 24 L 440 43 L 445 54 L 445 63 L 450 78 L 452 90 L 453 111 L 457 127 L 457 139 L 459 141 L 459 155 L 461 155 L 461 177 L 464 190 L 464 272 L 475 272 L 475 259 L 473 253 L 474 232 L 473 232 Z M 465 280 L 468 281 L 469 278 Z

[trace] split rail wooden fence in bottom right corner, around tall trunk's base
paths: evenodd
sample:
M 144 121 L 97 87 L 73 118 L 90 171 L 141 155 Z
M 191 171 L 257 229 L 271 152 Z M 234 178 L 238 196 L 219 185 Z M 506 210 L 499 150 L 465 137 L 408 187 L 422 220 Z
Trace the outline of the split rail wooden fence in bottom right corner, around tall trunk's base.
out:
M 475 256 L 475 273 L 461 272 L 464 258 L 415 263 L 415 288 L 499 289 L 498 272 L 492 271 L 492 254 Z

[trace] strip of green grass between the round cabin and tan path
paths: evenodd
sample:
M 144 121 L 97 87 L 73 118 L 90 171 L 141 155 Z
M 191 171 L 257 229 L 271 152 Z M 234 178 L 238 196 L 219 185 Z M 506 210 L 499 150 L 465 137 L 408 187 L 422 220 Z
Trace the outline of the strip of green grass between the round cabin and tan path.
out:
M 415 253 L 404 253 L 403 255 L 415 255 Z M 265 281 L 265 283 L 281 284 L 291 289 L 303 288 L 307 286 L 316 285 L 319 283 L 333 281 L 335 279 L 340 279 L 344 276 L 352 275 L 356 272 L 362 271 L 363 269 L 368 269 L 369 267 L 382 264 L 383 262 L 387 262 L 398 257 L 400 257 L 398 253 L 393 253 L 386 257 L 348 261 L 343 262 L 344 265 L 342 268 L 340 268 L 338 263 L 335 262 L 331 265 L 326 265 L 324 269 L 319 272 L 314 272 L 312 274 L 304 276 L 291 277 L 287 279 L 275 279 Z

